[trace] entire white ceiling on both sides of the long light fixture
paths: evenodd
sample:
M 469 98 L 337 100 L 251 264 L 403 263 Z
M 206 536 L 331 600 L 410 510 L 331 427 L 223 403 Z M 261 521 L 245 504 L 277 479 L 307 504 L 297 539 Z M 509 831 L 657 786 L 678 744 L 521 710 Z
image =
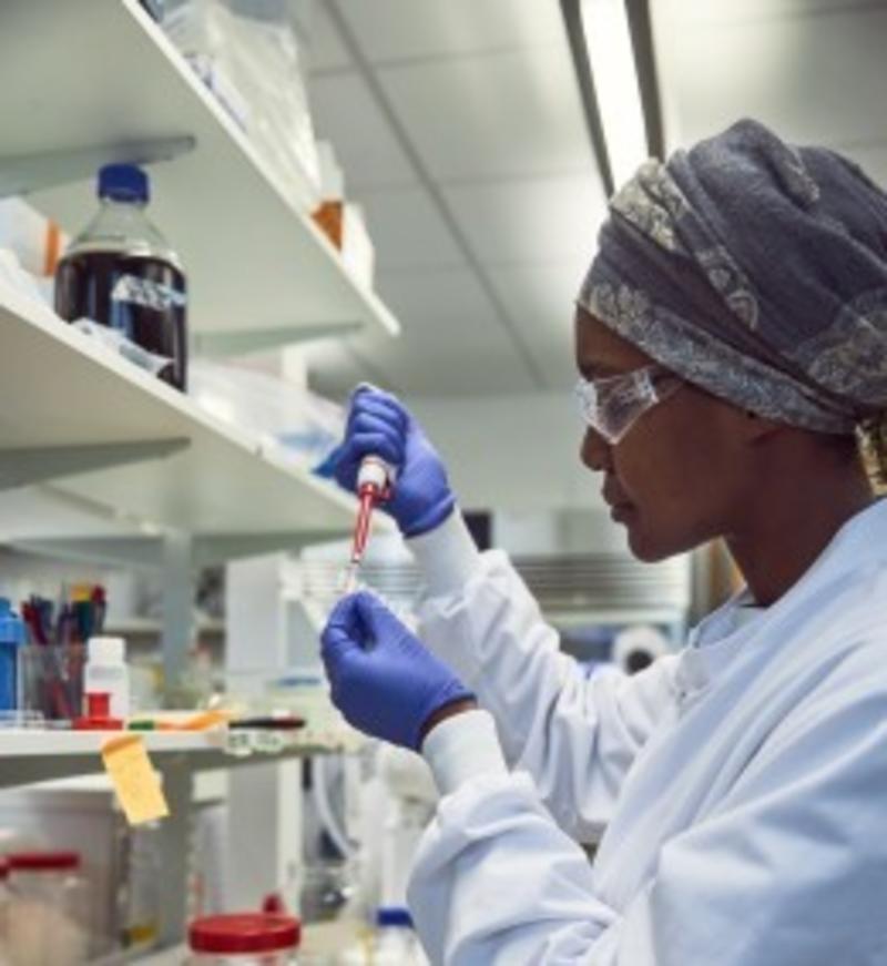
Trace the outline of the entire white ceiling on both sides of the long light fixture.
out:
M 887 182 L 887 0 L 651 6 L 670 149 L 755 116 Z M 309 53 L 404 326 L 312 347 L 317 388 L 567 394 L 604 197 L 558 0 L 320 0 Z

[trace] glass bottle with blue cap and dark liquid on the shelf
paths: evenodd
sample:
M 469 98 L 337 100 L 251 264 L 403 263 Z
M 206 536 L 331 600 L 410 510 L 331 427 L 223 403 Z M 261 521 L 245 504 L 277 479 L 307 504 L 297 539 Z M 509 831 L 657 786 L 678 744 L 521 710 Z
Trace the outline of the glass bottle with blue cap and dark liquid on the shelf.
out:
M 99 172 L 101 210 L 55 270 L 55 312 L 91 318 L 170 359 L 160 378 L 187 384 L 187 294 L 175 252 L 144 213 L 147 175 L 132 164 Z

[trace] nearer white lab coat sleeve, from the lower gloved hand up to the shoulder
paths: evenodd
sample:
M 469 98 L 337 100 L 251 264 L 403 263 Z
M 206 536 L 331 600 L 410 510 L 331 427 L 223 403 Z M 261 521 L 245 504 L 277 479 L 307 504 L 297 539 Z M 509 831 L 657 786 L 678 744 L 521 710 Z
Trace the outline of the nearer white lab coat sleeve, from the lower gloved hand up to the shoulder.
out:
M 711 811 L 665 840 L 624 908 L 598 894 L 592 868 L 528 775 L 461 774 L 453 789 L 443 774 L 448 794 L 409 888 L 431 962 L 887 962 L 887 684 L 883 671 L 874 684 L 858 673 L 867 668 L 870 678 L 876 667 L 869 657 L 857 672 L 838 668 L 793 711 Z M 429 763 L 440 770 L 434 755 Z

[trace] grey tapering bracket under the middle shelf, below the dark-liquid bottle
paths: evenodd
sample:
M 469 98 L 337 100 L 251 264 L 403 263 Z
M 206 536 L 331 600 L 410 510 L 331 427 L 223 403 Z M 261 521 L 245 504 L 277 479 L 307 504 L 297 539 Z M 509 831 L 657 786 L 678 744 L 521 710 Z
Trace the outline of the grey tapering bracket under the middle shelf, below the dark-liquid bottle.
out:
M 143 462 L 170 456 L 190 446 L 187 439 L 146 439 L 93 446 L 34 446 L 0 449 L 0 490 L 59 477 Z

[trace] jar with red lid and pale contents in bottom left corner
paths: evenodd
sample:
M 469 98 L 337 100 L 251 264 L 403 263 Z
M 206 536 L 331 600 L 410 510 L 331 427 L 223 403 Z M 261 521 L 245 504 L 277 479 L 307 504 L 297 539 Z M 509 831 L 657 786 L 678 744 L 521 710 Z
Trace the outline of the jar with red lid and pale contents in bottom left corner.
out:
M 77 852 L 16 852 L 8 856 L 8 942 L 13 963 L 74 966 L 89 960 L 86 882 Z

